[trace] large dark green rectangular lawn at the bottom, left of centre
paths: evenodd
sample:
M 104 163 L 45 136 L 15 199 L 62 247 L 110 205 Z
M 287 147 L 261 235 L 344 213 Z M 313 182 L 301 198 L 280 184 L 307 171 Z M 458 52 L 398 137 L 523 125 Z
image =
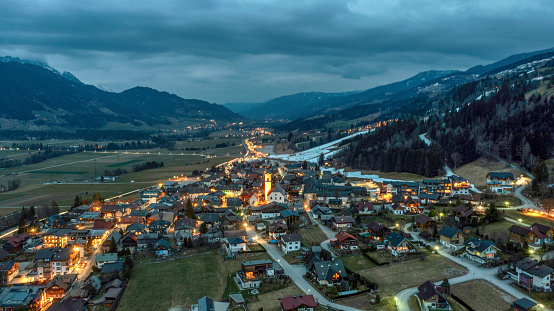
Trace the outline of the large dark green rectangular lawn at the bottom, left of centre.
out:
M 203 296 L 219 300 L 227 282 L 224 266 L 217 251 L 138 266 L 117 310 L 168 310 L 196 303 Z

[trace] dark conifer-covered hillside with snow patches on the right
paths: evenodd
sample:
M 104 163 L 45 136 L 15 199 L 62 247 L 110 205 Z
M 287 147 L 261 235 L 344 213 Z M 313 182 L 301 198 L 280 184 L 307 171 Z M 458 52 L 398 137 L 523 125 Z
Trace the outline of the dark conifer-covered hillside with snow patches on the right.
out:
M 342 157 L 355 168 L 424 176 L 438 175 L 445 162 L 459 167 L 483 156 L 531 170 L 554 150 L 551 63 L 460 85 L 434 100 L 435 113 L 357 136 Z

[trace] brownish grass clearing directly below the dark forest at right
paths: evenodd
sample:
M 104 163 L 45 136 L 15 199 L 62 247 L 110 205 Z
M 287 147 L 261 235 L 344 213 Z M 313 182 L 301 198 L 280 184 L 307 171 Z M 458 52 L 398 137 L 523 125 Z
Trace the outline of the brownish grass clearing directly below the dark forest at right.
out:
M 521 171 L 513 169 L 504 162 L 492 161 L 484 158 L 462 165 L 453 171 L 454 174 L 466 178 L 480 190 L 487 187 L 486 178 L 489 172 L 510 172 L 514 174 L 514 177 L 522 174 Z

